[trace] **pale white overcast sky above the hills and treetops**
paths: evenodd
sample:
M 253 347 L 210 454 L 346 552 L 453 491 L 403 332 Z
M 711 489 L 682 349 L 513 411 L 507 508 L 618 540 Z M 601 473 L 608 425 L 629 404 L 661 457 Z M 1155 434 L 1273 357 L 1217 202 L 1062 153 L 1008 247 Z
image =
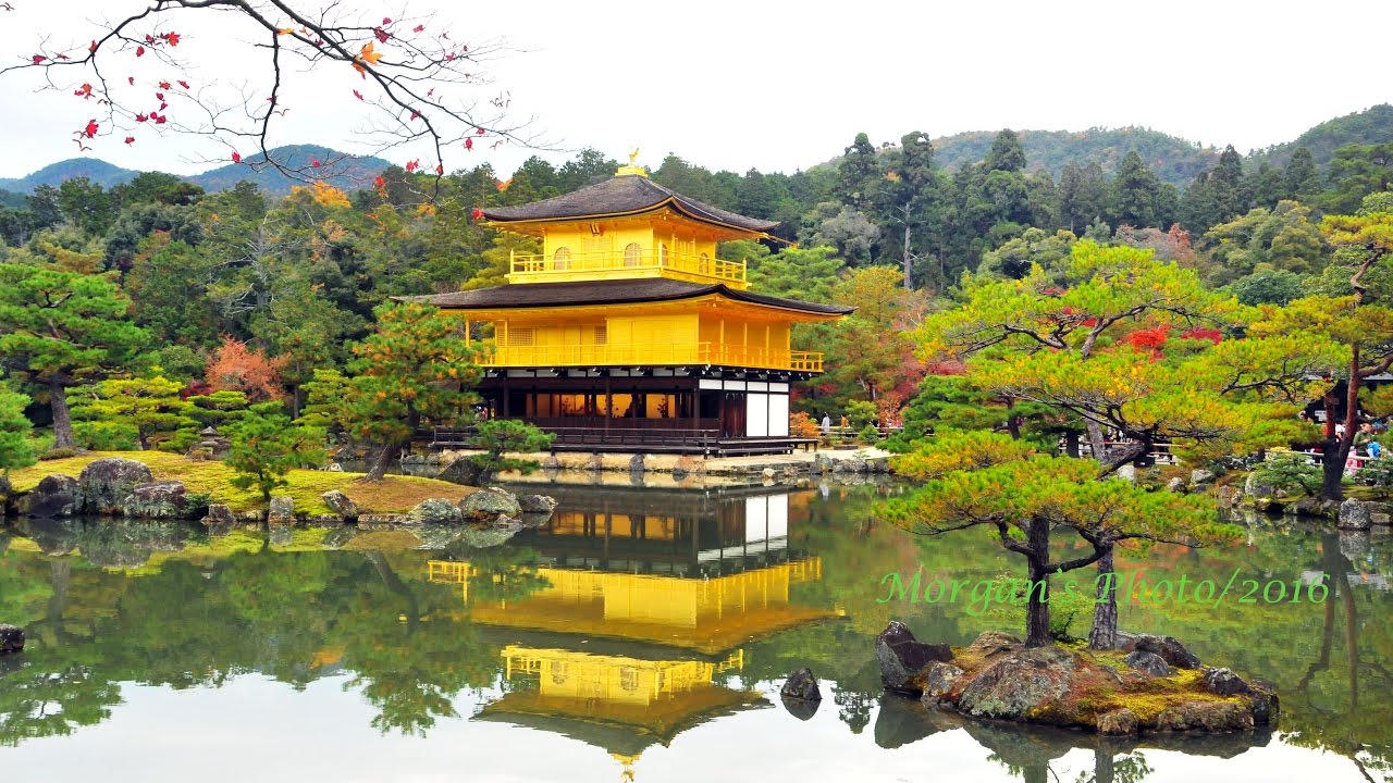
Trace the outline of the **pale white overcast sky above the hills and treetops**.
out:
M 39 38 L 89 40 L 91 22 L 145 0 L 7 0 L 0 29 L 11 61 Z M 318 7 L 322 0 L 302 0 Z M 401 1 L 341 0 L 401 18 Z M 556 163 L 593 146 L 621 159 L 631 146 L 656 166 L 669 152 L 710 169 L 794 171 L 840 155 L 857 132 L 876 144 L 921 130 L 1087 130 L 1145 125 L 1240 150 L 1290 141 L 1339 114 L 1393 102 L 1385 33 L 1393 1 L 1247 3 L 586 3 L 415 0 L 432 29 L 454 39 L 506 38 L 514 52 L 490 65 L 514 118 L 553 150 L 520 146 L 465 153 L 449 169 L 490 162 L 500 173 L 529 155 Z M 201 25 L 185 11 L 164 29 L 184 35 L 189 81 L 230 85 L 265 72 L 245 28 Z M 33 52 L 31 52 L 33 50 Z M 141 79 L 160 75 L 146 57 Z M 120 77 L 117 77 L 120 78 Z M 123 79 L 124 81 L 124 79 Z M 81 82 L 81 79 L 78 79 Z M 291 109 L 273 144 L 316 142 L 365 152 L 354 130 L 364 104 L 358 77 L 295 75 Z M 63 92 L 36 93 L 29 74 L 0 77 L 0 177 L 20 177 L 78 150 L 72 131 L 93 106 Z M 171 111 L 181 110 L 173 102 Z M 141 128 L 95 139 L 92 152 L 130 169 L 194 173 L 226 162 L 208 139 L 156 138 Z M 397 163 L 428 150 L 391 150 Z

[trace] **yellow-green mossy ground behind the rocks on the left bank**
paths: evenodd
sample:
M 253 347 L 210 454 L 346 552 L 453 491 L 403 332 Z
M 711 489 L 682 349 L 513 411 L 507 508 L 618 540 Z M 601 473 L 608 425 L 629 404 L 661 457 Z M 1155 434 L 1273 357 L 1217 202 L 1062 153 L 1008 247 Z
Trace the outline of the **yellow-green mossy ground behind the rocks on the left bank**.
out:
M 219 461 L 189 460 L 182 454 L 166 451 L 92 451 L 61 460 L 45 460 L 28 468 L 10 471 L 14 492 L 28 492 L 50 474 L 77 476 L 89 463 L 106 457 L 124 457 L 145 463 L 156 481 L 181 481 L 192 495 L 208 495 L 212 503 L 226 503 L 233 511 L 265 509 L 260 495 L 254 489 L 233 486 L 233 470 Z M 290 471 L 287 486 L 276 495 L 288 495 L 295 502 L 299 514 L 329 514 L 320 495 L 337 489 L 347 495 L 358 509 L 371 514 L 393 514 L 410 511 L 428 497 L 460 500 L 474 492 L 472 488 L 419 476 L 389 475 L 382 481 L 362 481 L 364 474 L 338 471 Z

